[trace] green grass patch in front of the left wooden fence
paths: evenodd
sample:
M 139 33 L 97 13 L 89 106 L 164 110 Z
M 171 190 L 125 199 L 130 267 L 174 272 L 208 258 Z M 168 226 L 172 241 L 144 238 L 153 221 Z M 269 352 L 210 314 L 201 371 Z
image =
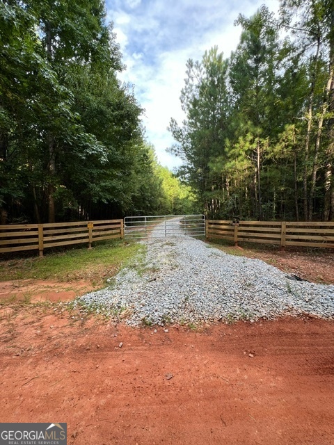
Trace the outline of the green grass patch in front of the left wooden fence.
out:
M 0 262 L 0 281 L 8 280 L 90 280 L 100 282 L 103 275 L 115 275 L 143 250 L 143 245 L 107 241 L 91 250 L 74 248 Z

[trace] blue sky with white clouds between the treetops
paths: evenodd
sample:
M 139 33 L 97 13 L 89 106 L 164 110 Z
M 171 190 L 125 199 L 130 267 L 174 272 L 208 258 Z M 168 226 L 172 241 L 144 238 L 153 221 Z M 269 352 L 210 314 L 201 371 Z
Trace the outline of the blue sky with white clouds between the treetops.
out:
M 170 118 L 184 119 L 186 61 L 201 60 L 214 45 L 228 58 L 241 34 L 234 20 L 239 13 L 250 17 L 262 4 L 278 10 L 278 0 L 106 0 L 106 20 L 113 22 L 127 66 L 119 78 L 134 86 L 145 109 L 146 138 L 161 165 L 173 170 L 182 164 L 166 148 L 175 143 L 167 130 Z

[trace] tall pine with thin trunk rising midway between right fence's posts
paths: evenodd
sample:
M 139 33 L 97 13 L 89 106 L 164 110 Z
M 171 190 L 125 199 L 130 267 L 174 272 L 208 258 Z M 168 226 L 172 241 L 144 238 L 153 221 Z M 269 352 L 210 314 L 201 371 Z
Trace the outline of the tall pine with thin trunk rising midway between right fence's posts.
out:
M 251 184 L 253 214 L 263 219 L 262 161 L 269 141 L 276 137 L 279 122 L 274 112 L 278 83 L 278 31 L 273 17 L 262 6 L 250 19 L 239 15 L 243 32 L 230 61 L 230 83 L 234 96 L 234 137 L 250 140 L 253 163 Z

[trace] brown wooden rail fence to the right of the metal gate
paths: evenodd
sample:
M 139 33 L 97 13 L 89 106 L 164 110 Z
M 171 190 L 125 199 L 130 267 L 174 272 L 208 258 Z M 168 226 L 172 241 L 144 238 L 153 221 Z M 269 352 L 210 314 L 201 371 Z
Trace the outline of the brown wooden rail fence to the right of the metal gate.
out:
M 334 223 L 207 220 L 207 238 L 239 242 L 334 248 Z

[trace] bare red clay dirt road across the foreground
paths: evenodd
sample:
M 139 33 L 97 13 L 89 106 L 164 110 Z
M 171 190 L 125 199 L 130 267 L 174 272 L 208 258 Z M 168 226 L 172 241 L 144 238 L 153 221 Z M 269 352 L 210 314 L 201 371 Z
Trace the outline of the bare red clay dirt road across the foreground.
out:
M 67 422 L 75 445 L 334 444 L 333 321 L 130 328 L 63 306 L 1 319 L 0 421 Z

